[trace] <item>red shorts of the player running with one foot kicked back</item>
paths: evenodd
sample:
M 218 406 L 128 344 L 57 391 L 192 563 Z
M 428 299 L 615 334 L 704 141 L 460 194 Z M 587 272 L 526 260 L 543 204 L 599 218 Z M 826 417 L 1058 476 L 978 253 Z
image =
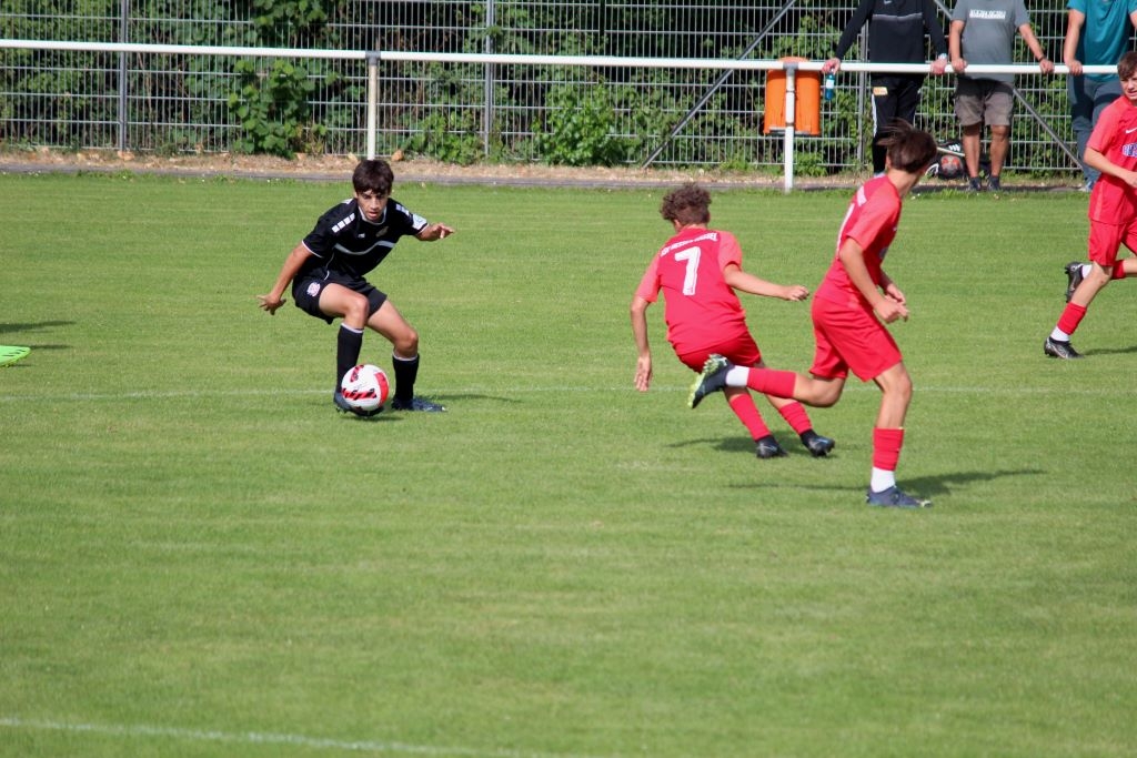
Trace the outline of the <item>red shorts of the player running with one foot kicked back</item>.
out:
M 845 378 L 852 370 L 868 382 L 903 360 L 885 325 L 861 307 L 814 298 L 813 338 L 810 373 L 821 378 Z

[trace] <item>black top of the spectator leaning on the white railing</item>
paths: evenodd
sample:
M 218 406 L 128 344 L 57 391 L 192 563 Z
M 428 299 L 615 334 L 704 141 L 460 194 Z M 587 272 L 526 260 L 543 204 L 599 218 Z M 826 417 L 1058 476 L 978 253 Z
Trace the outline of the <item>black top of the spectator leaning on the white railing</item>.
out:
M 861 0 L 837 42 L 837 58 L 845 57 L 865 22 L 869 22 L 869 52 L 865 57 L 871 63 L 926 63 L 926 28 L 936 53 L 947 53 L 944 27 L 931 0 Z

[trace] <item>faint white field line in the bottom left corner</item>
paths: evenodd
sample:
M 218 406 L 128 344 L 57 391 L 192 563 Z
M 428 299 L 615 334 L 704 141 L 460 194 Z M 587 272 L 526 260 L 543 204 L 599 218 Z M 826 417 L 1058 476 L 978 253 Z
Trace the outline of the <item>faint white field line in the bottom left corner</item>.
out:
M 227 744 L 280 744 L 341 750 L 349 752 L 377 752 L 407 756 L 471 756 L 473 758 L 584 758 L 568 753 L 525 752 L 521 750 L 479 750 L 476 748 L 407 744 L 405 742 L 380 742 L 375 740 L 330 740 L 302 734 L 280 734 L 275 732 L 217 732 L 213 730 L 183 730 L 171 726 L 146 724 L 76 724 L 25 719 L 0 716 L 0 728 L 36 732 L 66 732 L 70 734 L 96 734 L 130 739 L 163 738 L 184 742 L 222 742 Z

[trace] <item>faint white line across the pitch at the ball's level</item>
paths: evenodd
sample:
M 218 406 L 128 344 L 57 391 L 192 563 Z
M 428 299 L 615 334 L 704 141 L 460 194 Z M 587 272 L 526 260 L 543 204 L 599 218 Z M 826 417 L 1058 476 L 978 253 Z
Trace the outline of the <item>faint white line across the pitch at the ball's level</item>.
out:
M 688 386 L 653 386 L 652 392 L 688 392 Z M 861 382 L 849 382 L 845 385 L 845 392 L 875 392 L 872 384 Z M 616 392 L 632 393 L 634 388 L 629 383 L 625 386 L 467 386 L 453 388 L 445 392 L 428 393 L 430 397 L 446 398 L 450 394 L 530 394 L 541 392 Z M 914 388 L 916 394 L 994 394 L 994 395 L 1093 395 L 1113 397 L 1115 391 L 1110 389 L 1070 389 L 1070 388 L 1023 388 L 1023 386 L 921 386 Z M 58 402 L 118 402 L 130 400 L 177 400 L 190 399 L 200 400 L 206 398 L 284 398 L 292 395 L 326 394 L 327 390 L 157 390 L 157 391 L 134 391 L 134 392 L 67 392 L 52 394 L 52 403 Z M 42 405 L 42 394 L 0 394 L 0 402 L 35 402 Z

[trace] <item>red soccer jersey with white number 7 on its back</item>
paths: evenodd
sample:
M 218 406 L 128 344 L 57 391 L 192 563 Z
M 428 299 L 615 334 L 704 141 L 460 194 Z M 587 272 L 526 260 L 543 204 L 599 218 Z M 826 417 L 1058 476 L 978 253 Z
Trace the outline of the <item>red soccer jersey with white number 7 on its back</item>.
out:
M 687 228 L 667 240 L 644 272 L 636 294 L 655 302 L 663 291 L 667 341 L 677 352 L 721 344 L 746 332 L 746 311 L 723 278 L 728 264 L 742 265 L 733 234 Z

